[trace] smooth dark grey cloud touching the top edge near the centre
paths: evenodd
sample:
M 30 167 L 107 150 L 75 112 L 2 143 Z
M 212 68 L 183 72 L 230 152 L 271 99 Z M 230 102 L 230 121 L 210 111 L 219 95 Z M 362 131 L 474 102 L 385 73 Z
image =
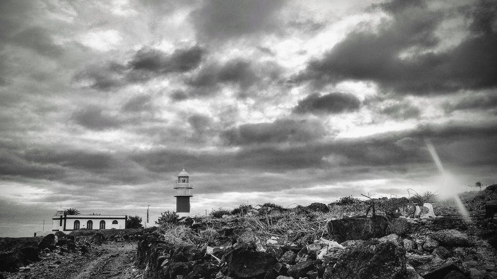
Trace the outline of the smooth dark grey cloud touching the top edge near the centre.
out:
M 191 13 L 197 36 L 220 40 L 274 32 L 278 29 L 277 11 L 284 1 L 213 0 Z

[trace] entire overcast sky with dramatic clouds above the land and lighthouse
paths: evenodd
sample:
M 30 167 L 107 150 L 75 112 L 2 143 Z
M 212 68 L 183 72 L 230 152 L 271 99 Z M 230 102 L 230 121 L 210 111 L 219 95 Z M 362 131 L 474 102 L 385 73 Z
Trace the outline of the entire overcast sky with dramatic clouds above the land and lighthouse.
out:
M 183 167 L 192 213 L 490 185 L 496 9 L 2 0 L 0 236 L 32 235 L 61 203 L 174 210 Z

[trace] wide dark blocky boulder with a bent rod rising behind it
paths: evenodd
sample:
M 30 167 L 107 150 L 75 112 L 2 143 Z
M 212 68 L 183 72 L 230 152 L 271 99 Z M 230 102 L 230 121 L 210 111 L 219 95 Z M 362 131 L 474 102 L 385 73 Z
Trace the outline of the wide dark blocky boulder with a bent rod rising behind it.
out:
M 385 216 L 356 216 L 328 222 L 328 233 L 337 242 L 349 239 L 366 240 L 386 235 L 388 219 Z

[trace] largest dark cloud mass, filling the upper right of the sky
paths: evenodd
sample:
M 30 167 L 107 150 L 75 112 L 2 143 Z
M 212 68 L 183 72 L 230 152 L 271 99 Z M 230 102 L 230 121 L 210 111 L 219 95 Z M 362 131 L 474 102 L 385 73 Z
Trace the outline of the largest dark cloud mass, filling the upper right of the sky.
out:
M 432 52 L 438 45 L 435 31 L 443 15 L 423 3 L 394 1 L 385 4 L 393 19 L 378 31 L 356 30 L 323 57 L 312 59 L 295 81 L 315 84 L 341 80 L 372 80 L 396 93 L 444 93 L 459 89 L 497 86 L 497 33 L 495 17 L 482 9 L 496 3 L 483 2 L 471 12 L 478 27 L 459 45 Z M 481 20 L 481 18 L 485 20 Z M 478 32 L 475 32 L 478 30 Z

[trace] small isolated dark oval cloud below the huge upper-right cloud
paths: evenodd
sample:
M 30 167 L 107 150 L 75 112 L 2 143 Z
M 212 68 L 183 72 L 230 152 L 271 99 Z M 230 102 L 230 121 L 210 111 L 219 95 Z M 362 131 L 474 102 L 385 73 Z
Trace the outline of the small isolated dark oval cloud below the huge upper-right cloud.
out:
M 299 101 L 293 109 L 296 113 L 340 113 L 357 111 L 361 101 L 350 93 L 334 92 L 320 95 L 311 94 Z

